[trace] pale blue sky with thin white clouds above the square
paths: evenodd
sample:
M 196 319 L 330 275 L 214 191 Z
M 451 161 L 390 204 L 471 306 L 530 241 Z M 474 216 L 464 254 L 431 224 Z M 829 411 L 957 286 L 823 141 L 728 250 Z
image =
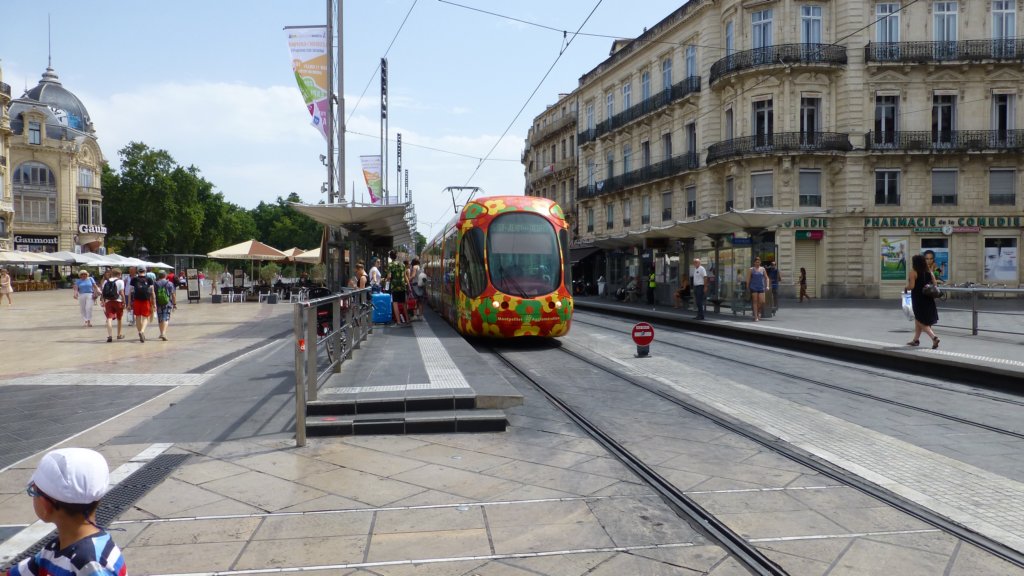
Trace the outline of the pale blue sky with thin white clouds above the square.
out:
M 636 37 L 681 4 L 346 0 L 346 198 L 355 182 L 355 200 L 369 202 L 358 157 L 380 149 L 376 71 L 385 52 L 389 184 L 400 132 L 418 230 L 430 237 L 453 214 L 445 187 L 522 194 L 531 120 L 607 57 L 610 37 Z M 3 0 L 0 15 L 0 67 L 14 96 L 46 70 L 49 16 L 53 69 L 85 104 L 115 167 L 118 151 L 141 141 L 195 165 L 246 208 L 291 192 L 326 199 L 327 145 L 309 124 L 282 30 L 325 24 L 324 0 Z M 579 36 L 558 58 L 558 31 L 571 34 L 585 20 L 583 33 L 608 37 Z

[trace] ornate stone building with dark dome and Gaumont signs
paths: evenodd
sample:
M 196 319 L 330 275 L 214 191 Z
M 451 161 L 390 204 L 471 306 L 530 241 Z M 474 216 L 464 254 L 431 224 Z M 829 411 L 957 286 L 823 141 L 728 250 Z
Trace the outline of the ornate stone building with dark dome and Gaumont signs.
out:
M 13 248 L 99 251 L 106 236 L 103 155 L 82 100 L 47 68 L 38 85 L 10 101 L 7 117 Z

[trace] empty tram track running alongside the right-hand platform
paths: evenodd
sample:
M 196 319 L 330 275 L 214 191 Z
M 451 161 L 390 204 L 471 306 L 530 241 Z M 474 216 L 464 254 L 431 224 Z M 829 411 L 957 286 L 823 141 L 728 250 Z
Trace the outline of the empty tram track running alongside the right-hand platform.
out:
M 591 323 L 591 322 L 581 321 L 579 318 L 573 319 L 573 322 L 577 323 L 577 324 L 584 324 L 584 325 L 591 326 L 591 327 L 594 327 L 594 328 L 600 328 L 602 330 L 606 330 L 606 331 L 609 331 L 609 332 L 615 332 L 615 333 L 621 333 L 622 332 L 621 330 L 615 330 L 614 328 L 611 328 L 611 327 L 607 326 L 606 324 L 599 324 L 599 323 Z M 683 334 L 683 331 L 679 331 L 678 333 L 679 334 Z M 720 337 L 716 337 L 716 339 L 718 339 L 719 341 L 722 341 L 722 342 L 727 342 L 728 341 L 729 343 L 735 343 L 735 340 L 729 341 L 729 340 L 726 340 L 726 339 L 720 338 Z M 956 422 L 956 423 L 959 423 L 959 424 L 965 424 L 965 425 L 977 427 L 979 429 L 984 429 L 984 430 L 987 430 L 987 431 L 996 433 L 996 434 L 1004 435 L 1004 436 L 1007 436 L 1007 437 L 1024 440 L 1024 433 L 1021 433 L 1021 431 L 1011 430 L 1011 429 L 1007 429 L 1007 428 L 1004 428 L 1004 427 L 995 426 L 995 425 L 992 425 L 992 424 L 986 424 L 984 422 L 978 422 L 976 420 L 971 420 L 971 419 L 968 419 L 968 418 L 963 418 L 963 417 L 959 417 L 959 416 L 956 416 L 956 415 L 953 415 L 953 414 L 948 414 L 948 413 L 945 413 L 945 412 L 940 412 L 940 411 L 937 411 L 937 410 L 933 410 L 931 408 L 925 408 L 925 407 L 922 407 L 922 406 L 916 406 L 916 405 L 913 405 L 913 404 L 908 404 L 908 403 L 901 402 L 901 401 L 898 401 L 898 400 L 893 400 L 891 398 L 885 398 L 885 397 L 881 397 L 881 396 L 873 395 L 873 394 L 870 394 L 870 393 L 866 393 L 866 392 L 862 392 L 862 390 L 850 388 L 850 387 L 843 386 L 843 385 L 840 385 L 840 384 L 834 384 L 834 383 L 830 383 L 830 382 L 825 382 L 823 380 L 819 380 L 819 379 L 816 379 L 816 378 L 811 378 L 811 377 L 804 376 L 804 375 L 801 375 L 801 374 L 797 374 L 797 373 L 794 373 L 794 372 L 791 372 L 791 371 L 778 370 L 778 369 L 767 367 L 767 366 L 751 365 L 749 362 L 743 362 L 743 361 L 737 360 L 737 359 L 735 359 L 733 357 L 729 357 L 729 356 L 725 356 L 725 355 L 721 355 L 721 354 L 715 354 L 715 353 L 708 352 L 708 351 L 705 351 L 705 349 L 699 349 L 699 348 L 694 348 L 694 347 L 687 347 L 687 346 L 684 346 L 684 345 L 681 345 L 681 344 L 677 344 L 677 343 L 674 343 L 674 342 L 666 341 L 665 339 L 659 340 L 658 343 L 659 343 L 659 345 L 670 346 L 670 347 L 673 347 L 673 348 L 676 348 L 676 349 L 685 351 L 685 352 L 690 353 L 690 354 L 696 354 L 696 355 L 705 356 L 705 357 L 708 357 L 708 358 L 713 358 L 715 360 L 725 361 L 725 362 L 728 362 L 730 364 L 739 365 L 739 366 L 742 366 L 744 369 L 755 368 L 755 369 L 761 370 L 762 372 L 765 372 L 765 373 L 770 373 L 770 374 L 775 374 L 775 375 L 778 375 L 778 376 L 783 376 L 783 377 L 785 377 L 787 379 L 800 380 L 802 382 L 806 382 L 806 383 L 809 383 L 809 384 L 812 384 L 812 385 L 815 385 L 815 386 L 818 386 L 818 387 L 827 388 L 827 389 L 834 389 L 834 390 L 841 392 L 841 393 L 844 393 L 844 394 L 847 394 L 847 395 L 850 395 L 850 396 L 856 396 L 856 397 L 859 397 L 859 398 L 868 399 L 868 400 L 871 400 L 873 402 L 878 402 L 878 403 L 881 403 L 881 404 L 887 404 L 887 405 L 890 405 L 890 406 L 895 406 L 895 407 L 903 408 L 903 409 L 906 409 L 906 410 L 912 410 L 914 412 L 919 412 L 919 413 L 922 413 L 922 414 L 928 414 L 930 416 L 934 416 L 934 417 L 937 417 L 937 418 L 942 418 L 944 420 L 948 420 L 948 421 L 951 421 L 951 422 Z M 778 351 L 777 348 L 773 348 L 771 346 L 766 346 L 766 345 L 763 345 L 763 344 L 751 344 L 750 342 L 743 342 L 743 345 L 746 345 L 746 346 L 757 345 L 757 347 L 759 347 L 761 349 L 770 351 L 773 355 L 778 355 L 778 356 L 781 356 L 781 357 L 784 357 L 784 358 L 790 358 L 790 359 L 794 359 L 794 360 L 807 360 L 806 356 L 801 356 L 801 355 L 793 354 L 793 353 L 788 353 L 788 352 L 781 352 L 781 351 Z M 850 368 L 849 365 L 841 364 L 841 363 L 837 363 L 837 362 L 828 361 L 828 360 L 824 360 L 824 359 L 815 359 L 815 361 L 816 362 L 821 362 L 823 364 L 828 364 L 830 366 L 844 368 L 844 369 L 849 369 Z M 860 370 L 859 366 L 858 366 L 858 370 Z M 994 397 L 994 396 L 991 396 L 991 395 L 984 395 L 984 394 L 980 394 L 980 393 L 972 393 L 972 392 L 967 392 L 967 390 L 956 390 L 956 389 L 949 388 L 947 386 L 941 386 L 941 385 L 937 385 L 937 384 L 931 384 L 931 383 L 928 383 L 928 382 L 923 382 L 920 379 L 913 380 L 913 379 L 910 379 L 910 378 L 896 376 L 896 375 L 893 375 L 891 373 L 884 373 L 884 372 L 879 372 L 879 371 L 872 371 L 872 370 L 869 370 L 869 369 L 867 369 L 867 370 L 860 370 L 860 372 L 861 372 L 861 374 L 868 374 L 868 375 L 871 375 L 871 376 L 878 376 L 878 377 L 887 378 L 887 379 L 890 379 L 890 380 L 902 381 L 902 382 L 906 382 L 906 383 L 913 384 L 913 385 L 921 385 L 921 386 L 933 387 L 933 388 L 941 389 L 943 392 L 950 393 L 950 394 L 964 394 L 964 395 L 967 395 L 967 396 L 972 396 L 974 398 L 980 398 L 980 399 L 991 401 L 991 402 L 1000 402 L 1000 403 L 1010 404 L 1010 405 L 1013 405 L 1013 406 L 1024 407 L 1024 401 L 1018 401 L 1018 400 L 1009 399 L 1009 398 L 999 398 L 999 397 Z

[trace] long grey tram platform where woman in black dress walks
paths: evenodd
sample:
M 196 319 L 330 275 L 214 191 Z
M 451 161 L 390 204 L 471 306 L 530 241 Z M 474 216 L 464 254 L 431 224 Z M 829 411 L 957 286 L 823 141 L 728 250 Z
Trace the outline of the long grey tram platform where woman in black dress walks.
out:
M 927 334 L 919 346 L 907 345 L 914 323 L 896 299 L 782 299 L 775 314 L 754 322 L 749 311 L 733 313 L 709 303 L 707 320 L 690 307 L 651 306 L 610 297 L 577 296 L 578 311 L 607 312 L 637 320 L 840 358 L 922 375 L 954 378 L 984 385 L 1024 384 L 1024 298 L 986 299 L 972 314 L 966 300 L 940 300 L 933 329 L 939 347 Z M 977 333 L 974 333 L 975 323 Z M 652 344 L 656 354 L 657 335 Z M 912 367 L 912 368 L 911 368 Z

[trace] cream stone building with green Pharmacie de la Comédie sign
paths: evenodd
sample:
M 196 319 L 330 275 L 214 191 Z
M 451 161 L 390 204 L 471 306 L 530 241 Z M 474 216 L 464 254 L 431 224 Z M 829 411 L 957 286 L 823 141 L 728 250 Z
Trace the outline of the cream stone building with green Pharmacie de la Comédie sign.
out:
M 1017 287 L 1022 4 L 690 0 L 580 79 L 578 241 L 659 299 L 694 255 L 723 299 L 755 255 L 783 295 L 804 268 L 814 295 L 895 296 L 924 250 Z M 687 224 L 752 208 L 806 215 L 717 245 Z

